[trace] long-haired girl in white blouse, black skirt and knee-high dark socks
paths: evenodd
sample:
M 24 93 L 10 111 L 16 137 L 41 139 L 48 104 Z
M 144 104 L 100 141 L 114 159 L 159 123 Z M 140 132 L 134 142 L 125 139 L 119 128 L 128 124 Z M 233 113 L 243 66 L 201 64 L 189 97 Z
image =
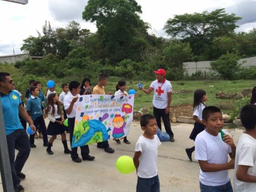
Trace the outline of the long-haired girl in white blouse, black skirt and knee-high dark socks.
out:
M 59 97 L 56 93 L 51 93 L 48 96 L 48 103 L 46 108 L 46 115 L 50 120 L 50 123 L 47 127 L 47 135 L 52 137 L 49 140 L 48 147 L 46 149 L 49 155 L 52 155 L 51 146 L 53 141 L 56 139 L 57 135 L 61 134 L 62 144 L 64 146 L 64 153 L 70 154 L 71 151 L 67 147 L 65 127 L 63 126 L 63 117 L 61 116 L 61 108 L 59 105 Z

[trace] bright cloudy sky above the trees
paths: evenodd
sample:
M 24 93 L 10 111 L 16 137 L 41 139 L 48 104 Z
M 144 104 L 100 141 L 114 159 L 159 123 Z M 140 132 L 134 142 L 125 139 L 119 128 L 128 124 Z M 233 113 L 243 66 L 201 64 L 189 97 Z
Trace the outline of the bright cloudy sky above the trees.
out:
M 82 20 L 87 0 L 29 0 L 26 5 L 0 0 L 0 56 L 22 53 L 23 39 L 37 37 L 49 21 L 52 27 L 66 27 L 69 21 L 80 23 L 81 28 L 96 32 L 95 23 Z M 137 0 L 143 13 L 140 18 L 151 25 L 149 33 L 168 38 L 164 32 L 166 21 L 176 14 L 213 11 L 225 8 L 227 13 L 242 17 L 236 32 L 256 28 L 256 0 Z M 251 22 L 248 22 L 251 21 Z M 247 23 L 248 22 L 248 23 Z

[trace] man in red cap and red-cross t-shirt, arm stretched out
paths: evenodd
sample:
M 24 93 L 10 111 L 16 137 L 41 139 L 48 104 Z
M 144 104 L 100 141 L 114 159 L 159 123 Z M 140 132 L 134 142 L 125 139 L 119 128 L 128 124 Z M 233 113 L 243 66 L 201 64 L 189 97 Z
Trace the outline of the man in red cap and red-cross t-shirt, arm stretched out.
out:
M 157 120 L 158 127 L 162 129 L 161 127 L 161 117 L 164 122 L 164 127 L 166 132 L 170 136 L 170 141 L 174 142 L 174 134 L 170 127 L 170 119 L 169 119 L 169 113 L 170 113 L 170 101 L 172 100 L 172 84 L 170 84 L 169 81 L 165 79 L 166 72 L 164 69 L 158 69 L 157 71 L 154 71 L 155 77 L 157 78 L 154 80 L 149 89 L 146 90 L 145 88 L 139 88 L 141 91 L 143 91 L 146 94 L 150 94 L 152 91 L 154 91 L 153 96 L 153 114 L 155 119 Z

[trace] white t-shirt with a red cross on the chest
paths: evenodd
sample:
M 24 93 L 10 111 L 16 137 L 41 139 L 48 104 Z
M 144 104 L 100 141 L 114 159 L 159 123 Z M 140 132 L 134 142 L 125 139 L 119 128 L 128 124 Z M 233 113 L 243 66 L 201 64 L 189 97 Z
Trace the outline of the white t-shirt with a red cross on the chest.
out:
M 165 80 L 164 83 L 160 83 L 158 80 L 155 80 L 150 85 L 153 88 L 153 106 L 158 109 L 165 109 L 167 107 L 168 96 L 167 93 L 173 91 L 172 85 L 169 81 Z

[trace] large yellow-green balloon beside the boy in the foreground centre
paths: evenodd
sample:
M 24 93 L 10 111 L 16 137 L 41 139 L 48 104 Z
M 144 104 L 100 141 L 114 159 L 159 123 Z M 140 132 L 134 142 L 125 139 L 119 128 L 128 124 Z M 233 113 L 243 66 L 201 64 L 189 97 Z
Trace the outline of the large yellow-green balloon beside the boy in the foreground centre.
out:
M 133 159 L 129 156 L 123 155 L 117 159 L 117 170 L 122 174 L 129 174 L 135 170 Z

